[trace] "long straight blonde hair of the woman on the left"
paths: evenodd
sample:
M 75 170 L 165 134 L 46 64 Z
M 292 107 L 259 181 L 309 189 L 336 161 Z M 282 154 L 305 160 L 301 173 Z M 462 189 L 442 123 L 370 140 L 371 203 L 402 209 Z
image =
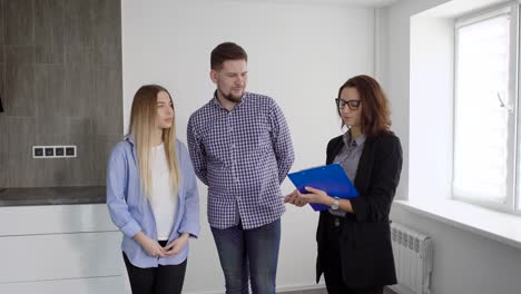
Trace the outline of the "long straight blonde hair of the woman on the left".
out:
M 157 95 L 160 91 L 168 94 L 171 101 L 170 94 L 161 86 L 145 85 L 137 90 L 134 96 L 132 108 L 130 111 L 130 127 L 129 131 L 134 136 L 136 155 L 139 166 L 139 178 L 142 192 L 147 197 L 151 196 L 151 141 L 153 134 L 156 128 L 157 117 Z M 177 195 L 180 183 L 180 167 L 177 159 L 176 151 L 176 111 L 174 108 L 174 120 L 170 128 L 163 129 L 163 141 L 165 145 L 165 155 L 167 158 L 168 169 L 170 171 L 170 186 L 171 194 Z

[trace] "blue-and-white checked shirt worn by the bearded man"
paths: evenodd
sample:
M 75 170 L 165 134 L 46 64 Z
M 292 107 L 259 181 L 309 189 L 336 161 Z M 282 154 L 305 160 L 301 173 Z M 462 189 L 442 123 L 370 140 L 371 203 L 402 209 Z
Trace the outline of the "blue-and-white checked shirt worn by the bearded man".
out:
M 214 98 L 188 121 L 195 171 L 208 186 L 212 227 L 256 228 L 285 212 L 281 183 L 293 165 L 289 129 L 275 101 L 246 92 L 232 111 Z

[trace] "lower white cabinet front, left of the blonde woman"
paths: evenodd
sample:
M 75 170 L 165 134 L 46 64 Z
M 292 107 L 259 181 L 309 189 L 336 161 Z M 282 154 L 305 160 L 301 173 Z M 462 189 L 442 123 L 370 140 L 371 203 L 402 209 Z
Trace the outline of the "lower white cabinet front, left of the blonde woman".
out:
M 120 239 L 119 232 L 0 237 L 0 283 L 122 275 Z

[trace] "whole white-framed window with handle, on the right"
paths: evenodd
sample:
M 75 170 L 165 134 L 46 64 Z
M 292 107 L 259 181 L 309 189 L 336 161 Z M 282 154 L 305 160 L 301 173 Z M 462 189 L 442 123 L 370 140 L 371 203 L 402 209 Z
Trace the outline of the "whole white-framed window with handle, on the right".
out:
M 456 199 L 520 209 L 518 111 L 519 4 L 455 23 L 452 194 Z

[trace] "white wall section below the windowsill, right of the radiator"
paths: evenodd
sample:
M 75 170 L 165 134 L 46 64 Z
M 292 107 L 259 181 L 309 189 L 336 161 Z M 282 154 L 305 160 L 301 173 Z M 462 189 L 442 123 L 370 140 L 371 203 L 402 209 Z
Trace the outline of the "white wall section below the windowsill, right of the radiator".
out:
M 521 293 L 521 249 L 397 206 L 392 219 L 432 237 L 431 294 Z

